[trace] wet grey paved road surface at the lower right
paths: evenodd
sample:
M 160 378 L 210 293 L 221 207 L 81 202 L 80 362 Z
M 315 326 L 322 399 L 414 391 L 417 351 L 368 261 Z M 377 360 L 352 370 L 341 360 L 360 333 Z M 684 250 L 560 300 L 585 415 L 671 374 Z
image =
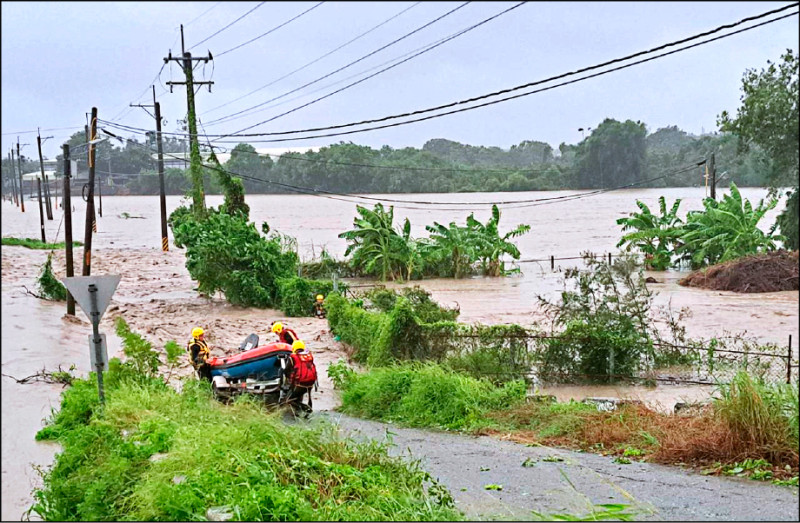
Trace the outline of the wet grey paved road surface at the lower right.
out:
M 649 463 L 622 465 L 597 454 L 399 428 L 337 412 L 320 414 L 356 438 L 384 440 L 387 429 L 394 433 L 391 453 L 419 459 L 471 518 L 530 520 L 534 510 L 585 514 L 591 502 L 629 504 L 640 511 L 637 520 L 800 519 L 796 487 L 703 476 Z M 534 465 L 523 467 L 528 458 Z M 502 485 L 503 490 L 485 490 L 488 484 Z

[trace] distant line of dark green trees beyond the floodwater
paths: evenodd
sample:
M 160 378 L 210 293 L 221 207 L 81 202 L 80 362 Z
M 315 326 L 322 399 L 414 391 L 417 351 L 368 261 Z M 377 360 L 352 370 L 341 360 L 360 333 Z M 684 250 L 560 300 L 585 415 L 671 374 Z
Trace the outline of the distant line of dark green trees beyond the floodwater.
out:
M 73 136 L 76 145 L 83 133 Z M 124 181 L 118 192 L 158 194 L 158 176 L 145 144 L 129 140 L 124 147 L 110 142 L 98 145 L 102 171 L 139 176 Z M 183 153 L 184 143 L 170 139 L 166 153 Z M 246 143 L 231 151 L 222 167 L 240 175 L 247 193 L 291 193 L 287 186 L 342 193 L 417 193 L 475 191 L 533 191 L 593 189 L 640 184 L 640 187 L 702 186 L 704 168 L 678 172 L 715 153 L 717 173 L 724 184 L 767 186 L 773 169 L 763 151 L 740 150 L 739 139 L 729 133 L 694 136 L 676 126 L 648 134 L 642 122 L 606 119 L 575 145 L 558 150 L 539 141 L 524 141 L 509 150 L 473 146 L 441 138 L 422 149 L 380 149 L 341 142 L 318 152 L 292 153 L 273 159 L 256 154 Z M 60 158 L 59 158 L 60 159 Z M 26 165 L 31 163 L 23 158 Z M 110 160 L 110 164 L 109 164 Z M 10 172 L 3 160 L 3 173 Z M 38 169 L 38 162 L 34 162 Z M 108 165 L 111 168 L 108 169 Z M 26 167 L 23 166 L 26 171 Z M 31 166 L 29 170 L 34 170 Z M 26 171 L 27 172 L 27 171 Z M 673 174 L 674 173 L 674 174 Z M 113 177 L 113 176 L 112 176 Z M 10 188 L 10 181 L 8 187 Z M 277 182 L 277 183 L 270 183 Z M 286 184 L 280 185 L 280 184 Z M 184 194 L 190 183 L 181 169 L 166 170 L 168 194 Z M 206 192 L 221 192 L 213 171 L 207 169 Z

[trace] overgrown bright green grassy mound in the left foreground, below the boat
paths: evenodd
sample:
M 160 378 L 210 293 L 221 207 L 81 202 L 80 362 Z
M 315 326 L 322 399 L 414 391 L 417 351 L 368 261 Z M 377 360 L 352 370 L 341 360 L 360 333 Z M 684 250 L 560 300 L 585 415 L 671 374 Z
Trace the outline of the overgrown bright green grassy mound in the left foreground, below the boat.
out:
M 210 510 L 239 521 L 462 518 L 444 487 L 385 444 L 287 426 L 244 397 L 221 405 L 200 381 L 179 394 L 120 372 L 107 373 L 103 409 L 92 378 L 76 380 L 37 435 L 63 448 L 35 492 L 44 520 L 197 521 Z

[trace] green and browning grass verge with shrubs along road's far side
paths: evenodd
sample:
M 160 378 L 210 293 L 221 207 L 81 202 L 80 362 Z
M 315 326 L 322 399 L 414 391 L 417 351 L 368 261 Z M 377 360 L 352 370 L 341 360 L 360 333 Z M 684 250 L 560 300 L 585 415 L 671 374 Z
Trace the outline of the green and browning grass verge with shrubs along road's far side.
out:
M 441 335 L 448 325 L 454 332 L 457 324 L 404 319 L 404 309 L 413 312 L 409 304 L 388 313 L 365 310 L 338 296 L 331 296 L 328 304 L 333 332 L 341 333 L 354 359 L 369 365 L 364 373 L 344 362 L 329 368 L 342 391 L 341 410 L 348 414 L 415 427 L 502 434 L 528 444 L 617 455 L 621 463 L 633 458 L 686 464 L 708 473 L 797 484 L 795 385 L 766 384 L 740 372 L 729 385 L 719 386 L 711 405 L 693 415 L 668 415 L 641 405 L 600 412 L 575 402 L 526 403 L 521 380 L 487 379 L 497 377 L 490 372 L 492 363 L 502 363 L 489 352 L 493 348 L 486 351 L 481 346 L 471 354 L 450 357 L 428 347 L 426 332 Z M 446 338 L 441 340 L 447 345 Z M 408 361 L 418 359 L 414 354 L 436 356 L 439 363 Z

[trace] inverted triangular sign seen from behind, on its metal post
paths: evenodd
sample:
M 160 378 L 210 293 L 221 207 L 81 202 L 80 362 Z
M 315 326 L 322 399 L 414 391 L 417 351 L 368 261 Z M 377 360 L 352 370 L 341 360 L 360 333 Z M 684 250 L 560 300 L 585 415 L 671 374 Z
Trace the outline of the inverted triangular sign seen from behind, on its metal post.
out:
M 89 336 L 89 349 L 92 367 L 97 372 L 97 391 L 100 403 L 105 403 L 103 393 L 103 371 L 108 370 L 108 350 L 106 336 L 100 334 L 100 318 L 106 312 L 111 296 L 119 285 L 119 274 L 104 276 L 75 276 L 64 278 L 64 286 L 75 298 L 81 310 L 92 322 L 92 334 Z

